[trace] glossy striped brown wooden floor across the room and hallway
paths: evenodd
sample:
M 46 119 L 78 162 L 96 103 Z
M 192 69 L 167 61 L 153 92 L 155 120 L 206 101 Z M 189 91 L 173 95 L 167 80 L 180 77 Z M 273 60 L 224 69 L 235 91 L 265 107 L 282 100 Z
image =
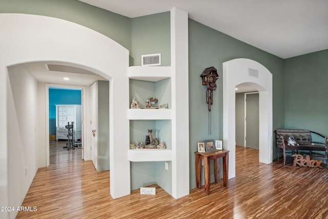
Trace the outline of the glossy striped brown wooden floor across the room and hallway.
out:
M 258 150 L 236 147 L 236 177 L 229 187 L 211 185 L 211 194 L 193 189 L 174 199 L 156 195 L 113 200 L 109 171 L 97 172 L 81 161 L 80 149 L 51 145 L 51 165 L 40 168 L 16 218 L 328 218 L 328 168 L 293 167 L 282 161 L 258 162 Z

